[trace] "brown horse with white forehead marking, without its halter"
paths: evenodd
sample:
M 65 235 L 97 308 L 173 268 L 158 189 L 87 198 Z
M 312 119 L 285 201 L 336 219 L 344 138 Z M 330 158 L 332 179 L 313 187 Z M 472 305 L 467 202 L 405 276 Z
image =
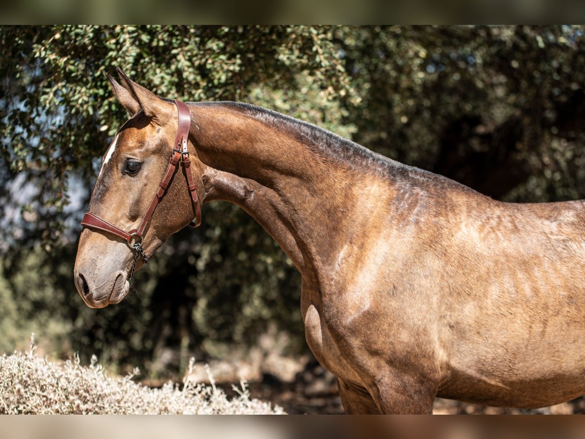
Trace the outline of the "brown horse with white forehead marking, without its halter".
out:
M 119 74 L 112 88 L 132 118 L 90 211 L 129 230 L 176 152 L 178 107 Z M 187 108 L 192 188 L 249 212 L 297 266 L 308 345 L 347 412 L 431 413 L 436 396 L 542 407 L 585 393 L 583 201 L 500 203 L 264 108 Z M 145 257 L 194 218 L 185 175 L 146 226 Z M 82 231 L 75 283 L 88 306 L 128 293 L 127 241 Z

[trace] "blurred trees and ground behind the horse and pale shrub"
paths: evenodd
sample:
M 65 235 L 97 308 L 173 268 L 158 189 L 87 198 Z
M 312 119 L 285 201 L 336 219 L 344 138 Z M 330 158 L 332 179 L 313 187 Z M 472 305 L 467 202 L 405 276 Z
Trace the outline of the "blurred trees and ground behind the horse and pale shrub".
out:
M 78 296 L 79 223 L 126 120 L 105 73 L 121 67 L 162 97 L 274 109 L 497 200 L 562 201 L 585 198 L 584 32 L 0 26 L 0 354 L 36 332 L 51 358 L 95 354 L 152 386 L 194 356 L 291 412 L 337 413 L 335 380 L 304 340 L 300 275 L 235 205 L 205 204 L 201 227 L 172 236 L 121 304 Z

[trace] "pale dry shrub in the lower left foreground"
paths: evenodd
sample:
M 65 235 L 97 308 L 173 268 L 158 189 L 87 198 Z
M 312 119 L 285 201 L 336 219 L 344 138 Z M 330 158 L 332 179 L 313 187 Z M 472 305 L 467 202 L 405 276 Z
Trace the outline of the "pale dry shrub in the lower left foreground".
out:
M 192 362 L 190 369 L 192 367 Z M 182 388 L 167 383 L 150 389 L 125 378 L 112 378 L 92 358 L 82 366 L 78 356 L 61 365 L 39 358 L 31 342 L 25 354 L 0 357 L 0 414 L 283 414 L 281 407 L 250 399 L 246 383 L 239 396 L 228 400 L 215 386 L 192 382 L 185 375 Z

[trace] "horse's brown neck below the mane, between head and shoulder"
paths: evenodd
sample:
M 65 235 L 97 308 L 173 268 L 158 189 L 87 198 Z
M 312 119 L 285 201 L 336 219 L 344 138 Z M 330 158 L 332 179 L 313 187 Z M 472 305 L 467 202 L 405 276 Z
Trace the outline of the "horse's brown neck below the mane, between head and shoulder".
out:
M 246 210 L 278 242 L 302 275 L 330 260 L 352 224 L 355 173 L 278 126 L 221 106 L 191 110 L 191 136 L 205 201 Z

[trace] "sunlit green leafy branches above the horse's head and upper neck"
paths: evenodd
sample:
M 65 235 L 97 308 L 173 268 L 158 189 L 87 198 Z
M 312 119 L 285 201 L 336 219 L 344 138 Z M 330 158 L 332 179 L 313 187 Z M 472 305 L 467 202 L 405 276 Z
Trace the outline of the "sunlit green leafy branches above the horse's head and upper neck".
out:
M 62 232 L 67 173 L 92 180 L 92 160 L 126 120 L 106 72 L 123 67 L 164 97 L 249 100 L 254 92 L 261 104 L 276 91 L 281 99 L 298 98 L 300 78 L 306 102 L 288 109 L 337 128 L 343 114 L 335 96 L 352 93 L 332 32 L 312 26 L 0 28 L 2 154 L 11 172 L 26 172 L 40 188 L 29 209 L 41 213 L 42 238 Z

